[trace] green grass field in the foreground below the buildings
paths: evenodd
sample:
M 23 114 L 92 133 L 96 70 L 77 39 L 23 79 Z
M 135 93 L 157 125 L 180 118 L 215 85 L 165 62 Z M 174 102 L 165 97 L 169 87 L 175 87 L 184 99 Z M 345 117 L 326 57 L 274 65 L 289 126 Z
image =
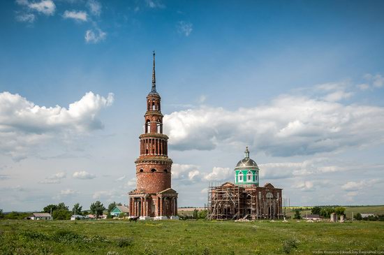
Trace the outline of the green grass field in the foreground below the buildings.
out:
M 1 254 L 384 252 L 384 222 L 0 221 Z

